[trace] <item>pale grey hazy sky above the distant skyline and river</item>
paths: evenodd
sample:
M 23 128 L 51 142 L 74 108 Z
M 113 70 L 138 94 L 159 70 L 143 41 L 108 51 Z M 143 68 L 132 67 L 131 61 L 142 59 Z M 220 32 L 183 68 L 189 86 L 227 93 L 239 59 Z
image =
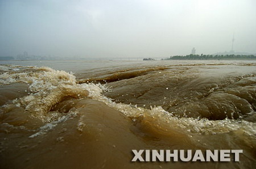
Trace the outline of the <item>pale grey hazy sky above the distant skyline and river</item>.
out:
M 0 0 L 0 56 L 256 53 L 255 0 Z

